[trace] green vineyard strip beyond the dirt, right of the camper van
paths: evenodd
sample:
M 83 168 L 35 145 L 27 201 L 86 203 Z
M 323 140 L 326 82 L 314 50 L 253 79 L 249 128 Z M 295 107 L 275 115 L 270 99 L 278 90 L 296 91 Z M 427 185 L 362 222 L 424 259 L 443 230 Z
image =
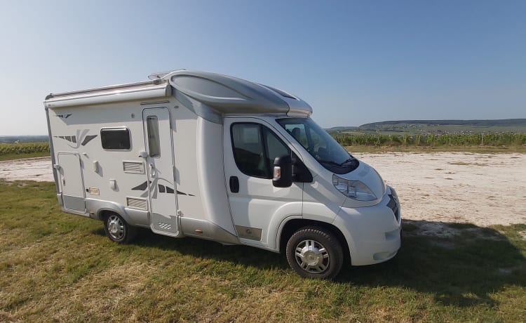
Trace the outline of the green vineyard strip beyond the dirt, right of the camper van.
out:
M 517 146 L 526 145 L 526 133 L 473 133 L 446 135 L 333 134 L 342 146 Z

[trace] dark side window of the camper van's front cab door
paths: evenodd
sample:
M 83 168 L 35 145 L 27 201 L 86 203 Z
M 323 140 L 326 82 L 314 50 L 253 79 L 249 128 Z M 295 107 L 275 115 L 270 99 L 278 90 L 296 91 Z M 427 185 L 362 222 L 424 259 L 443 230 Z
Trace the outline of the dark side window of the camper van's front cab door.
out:
M 233 124 L 231 138 L 236 165 L 248 176 L 272 178 L 274 159 L 290 156 L 290 149 L 261 124 Z

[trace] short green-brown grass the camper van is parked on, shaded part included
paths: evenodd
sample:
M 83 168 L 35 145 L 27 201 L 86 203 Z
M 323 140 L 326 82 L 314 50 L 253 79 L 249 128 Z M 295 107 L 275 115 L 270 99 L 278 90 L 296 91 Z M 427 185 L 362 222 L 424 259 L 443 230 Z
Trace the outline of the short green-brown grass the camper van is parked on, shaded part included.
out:
M 144 230 L 114 244 L 53 183 L 0 182 L 0 321 L 484 321 L 526 317 L 526 225 L 404 225 L 387 263 L 302 279 L 283 256 Z M 478 235 L 480 230 L 483 234 Z

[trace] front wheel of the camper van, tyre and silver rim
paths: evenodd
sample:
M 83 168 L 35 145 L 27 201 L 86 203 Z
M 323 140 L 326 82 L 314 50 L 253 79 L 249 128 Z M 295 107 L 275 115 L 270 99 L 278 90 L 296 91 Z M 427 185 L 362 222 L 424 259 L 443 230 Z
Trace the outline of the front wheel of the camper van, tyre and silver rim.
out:
M 287 242 L 287 261 L 300 276 L 332 279 L 344 263 L 344 253 L 337 237 L 321 227 L 297 230 Z

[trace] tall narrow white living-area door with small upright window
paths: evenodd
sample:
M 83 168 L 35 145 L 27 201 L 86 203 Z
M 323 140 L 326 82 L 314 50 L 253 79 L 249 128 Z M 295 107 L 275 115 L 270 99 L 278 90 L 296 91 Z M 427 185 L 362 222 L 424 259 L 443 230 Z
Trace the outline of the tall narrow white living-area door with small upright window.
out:
M 173 176 L 173 140 L 170 111 L 144 109 L 144 140 L 147 152 L 150 227 L 162 235 L 177 236 L 177 192 Z

